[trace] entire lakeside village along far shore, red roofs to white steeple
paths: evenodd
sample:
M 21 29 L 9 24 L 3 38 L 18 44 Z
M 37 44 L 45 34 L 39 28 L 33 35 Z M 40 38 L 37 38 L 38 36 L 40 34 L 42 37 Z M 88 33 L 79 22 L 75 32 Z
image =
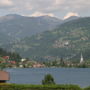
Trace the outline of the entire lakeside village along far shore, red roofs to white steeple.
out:
M 0 69 L 3 68 L 45 68 L 45 67 L 77 67 L 77 68 L 88 68 L 90 62 L 85 61 L 81 54 L 79 62 L 73 62 L 70 60 L 52 60 L 47 62 L 39 62 L 35 60 L 22 58 L 19 61 L 10 60 L 9 56 L 0 57 Z

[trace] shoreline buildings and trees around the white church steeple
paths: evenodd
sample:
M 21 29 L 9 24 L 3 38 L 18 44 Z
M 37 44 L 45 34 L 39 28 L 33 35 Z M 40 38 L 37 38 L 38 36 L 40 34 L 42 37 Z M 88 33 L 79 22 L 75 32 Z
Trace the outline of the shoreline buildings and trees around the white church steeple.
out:
M 72 61 L 72 60 L 63 60 L 57 59 L 54 61 L 47 62 L 45 64 L 48 67 L 80 67 L 80 68 L 90 68 L 90 61 L 86 61 L 81 54 L 80 61 Z

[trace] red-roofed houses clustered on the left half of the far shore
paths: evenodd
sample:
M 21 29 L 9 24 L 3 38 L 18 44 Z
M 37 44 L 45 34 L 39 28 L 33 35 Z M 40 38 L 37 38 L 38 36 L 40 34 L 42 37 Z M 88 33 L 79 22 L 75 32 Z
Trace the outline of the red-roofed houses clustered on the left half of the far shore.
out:
M 6 63 L 5 67 L 12 67 L 12 68 L 41 68 L 45 67 L 43 63 L 39 63 L 37 61 L 28 60 L 28 59 L 21 59 L 19 62 L 16 62 L 15 60 L 10 60 L 9 56 L 3 56 L 0 60 L 0 63 Z

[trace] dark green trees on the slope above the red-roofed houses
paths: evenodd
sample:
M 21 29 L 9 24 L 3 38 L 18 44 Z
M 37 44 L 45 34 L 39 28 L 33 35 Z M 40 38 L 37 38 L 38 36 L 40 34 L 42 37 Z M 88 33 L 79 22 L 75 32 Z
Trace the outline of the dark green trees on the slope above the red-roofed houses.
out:
M 21 56 L 16 52 L 8 52 L 3 48 L 0 48 L 0 57 L 9 56 L 9 60 L 20 61 Z

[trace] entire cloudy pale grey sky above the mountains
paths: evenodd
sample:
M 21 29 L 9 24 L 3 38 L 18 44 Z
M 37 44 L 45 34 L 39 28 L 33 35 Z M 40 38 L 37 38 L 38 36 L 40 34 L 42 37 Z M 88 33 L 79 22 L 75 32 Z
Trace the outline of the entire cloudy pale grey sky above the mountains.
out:
M 86 17 L 90 16 L 90 0 L 0 0 L 0 16 L 7 14 Z

